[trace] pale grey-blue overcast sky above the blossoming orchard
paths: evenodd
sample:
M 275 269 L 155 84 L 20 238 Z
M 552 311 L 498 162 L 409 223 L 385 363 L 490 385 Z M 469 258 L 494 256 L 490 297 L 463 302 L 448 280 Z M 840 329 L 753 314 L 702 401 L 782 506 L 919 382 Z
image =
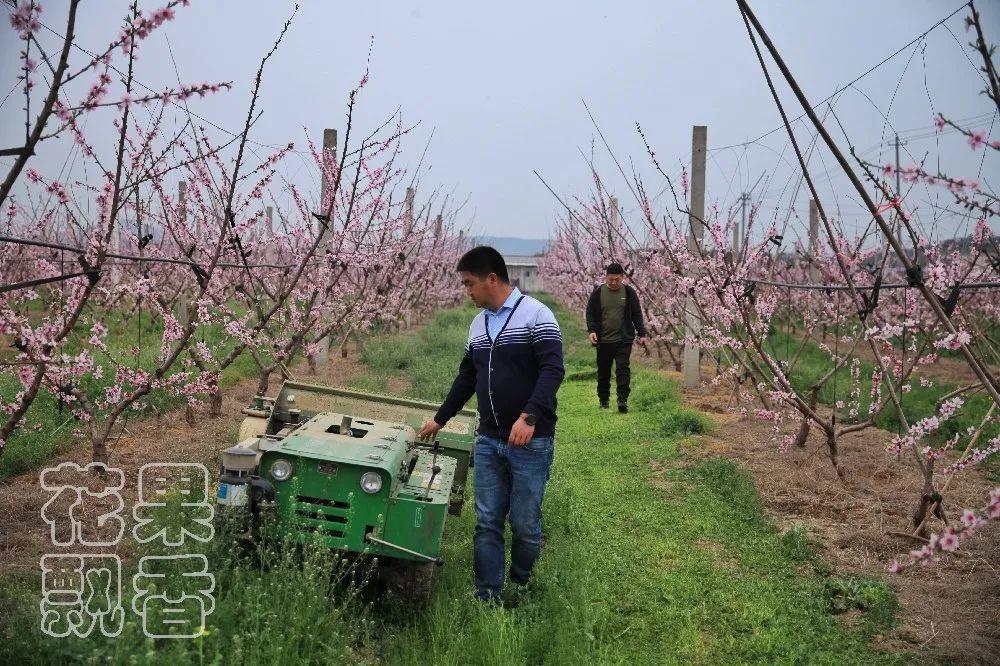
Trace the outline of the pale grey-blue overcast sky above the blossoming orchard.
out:
M 61 30 L 65 0 L 43 2 L 45 23 Z M 148 8 L 160 3 L 142 3 Z M 958 7 L 945 0 L 754 2 L 758 16 L 807 95 L 814 101 L 833 93 Z M 981 2 L 988 35 L 1000 41 L 1000 3 Z M 81 46 L 97 50 L 113 38 L 126 3 L 85 0 L 77 35 Z M 234 90 L 193 107 L 233 131 L 243 122 L 249 87 L 260 57 L 270 48 L 292 3 L 279 0 L 194 0 L 179 9 L 169 28 L 151 39 L 138 77 L 156 90 L 175 84 L 173 49 L 185 82 L 232 80 Z M 9 11 L 9 10 L 8 10 Z M 860 150 L 880 162 L 892 158 L 892 127 L 914 136 L 903 162 L 930 151 L 935 166 L 963 176 L 979 175 L 984 187 L 1000 186 L 996 155 L 981 163 L 961 137 L 938 140 L 919 128 L 932 125 L 934 112 L 975 117 L 977 127 L 1000 135 L 1000 119 L 985 96 L 969 58 L 970 34 L 959 12 L 857 88 L 841 95 L 835 111 Z M 5 21 L 6 22 L 6 21 Z M 950 32 L 949 32 L 950 29 Z M 13 85 L 18 43 L 5 27 L 0 41 L 0 77 Z M 620 159 L 631 157 L 651 191 L 662 186 L 635 131 L 643 126 L 658 156 L 679 169 L 691 150 L 691 126 L 708 126 L 710 148 L 754 138 L 777 127 L 779 118 L 733 0 L 624 0 L 616 3 L 548 2 L 321 2 L 305 0 L 278 54 L 265 72 L 264 115 L 253 139 L 264 144 L 294 141 L 304 132 L 320 137 L 324 127 L 344 122 L 348 91 L 365 69 L 374 37 L 371 77 L 359 114 L 363 126 L 380 122 L 401 107 L 420 125 L 406 140 L 406 159 L 415 165 L 434 130 L 428 153 L 432 169 L 423 187 L 441 186 L 470 197 L 479 233 L 541 238 L 548 235 L 558 203 L 533 174 L 542 173 L 561 195 L 586 195 L 587 166 L 595 131 L 586 100 Z M 898 86 L 898 89 L 897 89 Z M 0 91 L 0 94 L 6 90 Z M 895 97 L 894 97 L 895 95 Z M 866 97 L 867 96 L 867 97 Z M 786 97 L 789 106 L 793 100 Z M 891 104 L 890 104 L 891 102 Z M 0 146 L 23 136 L 21 100 L 12 95 L 0 107 Z M 796 112 L 797 115 L 798 112 Z M 886 128 L 883 114 L 891 125 Z M 994 122 L 995 121 L 995 122 Z M 835 127 L 835 125 L 833 125 Z M 904 130 L 915 130 L 904 132 Z M 90 127 L 111 140 L 106 129 Z M 803 139 L 808 135 L 803 133 Z M 839 130 L 836 136 L 841 137 Z M 712 150 L 708 197 L 733 205 L 761 173 L 766 185 L 754 192 L 762 211 L 791 201 L 793 156 L 783 132 L 749 149 Z M 888 144 L 886 144 L 887 146 Z M 598 163 L 626 210 L 634 200 L 598 140 Z M 34 163 L 45 172 L 62 165 L 66 147 L 45 148 Z M 815 165 L 824 172 L 814 157 Z M 827 165 L 833 164 L 826 156 Z M 628 168 L 628 167 L 626 167 Z M 308 163 L 293 157 L 286 175 L 315 182 Z M 821 180 L 826 180 L 825 177 Z M 845 181 L 836 175 L 824 187 L 836 198 L 848 226 L 865 222 Z M 925 225 L 931 204 L 946 206 L 946 193 L 922 194 Z M 795 201 L 804 210 L 806 195 Z M 804 213 L 803 213 L 804 214 Z M 960 220 L 939 217 L 935 233 L 951 235 Z

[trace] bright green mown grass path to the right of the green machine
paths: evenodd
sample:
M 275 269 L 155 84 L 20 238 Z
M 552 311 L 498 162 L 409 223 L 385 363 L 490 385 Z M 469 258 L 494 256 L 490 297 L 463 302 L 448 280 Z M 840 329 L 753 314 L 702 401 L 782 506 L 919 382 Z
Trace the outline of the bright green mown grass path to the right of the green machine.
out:
M 469 599 L 466 512 L 448 527 L 429 613 L 398 620 L 380 650 L 386 662 L 894 661 L 868 643 L 891 622 L 888 588 L 822 576 L 800 533 L 781 534 L 763 516 L 734 463 L 687 462 L 684 445 L 707 421 L 680 405 L 673 385 L 640 369 L 631 413 L 596 409 L 592 352 L 559 314 L 568 381 L 536 590 L 513 610 Z M 829 612 L 843 588 L 872 608 L 854 631 Z

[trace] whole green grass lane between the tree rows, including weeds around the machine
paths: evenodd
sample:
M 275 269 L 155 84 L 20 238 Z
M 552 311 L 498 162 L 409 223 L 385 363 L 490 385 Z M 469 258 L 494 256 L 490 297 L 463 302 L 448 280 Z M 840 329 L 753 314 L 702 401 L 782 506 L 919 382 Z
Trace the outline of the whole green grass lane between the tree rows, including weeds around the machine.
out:
M 411 395 L 440 399 L 473 312 L 441 313 L 417 334 L 370 341 L 371 366 L 359 385 L 384 389 L 401 377 L 411 380 Z M 219 583 L 208 635 L 153 642 L 130 614 L 118 639 L 47 639 L 37 629 L 38 580 L 8 579 L 0 586 L 0 600 L 7 599 L 0 601 L 0 662 L 901 661 L 870 644 L 892 625 L 891 591 L 831 576 L 801 529 L 782 532 L 767 519 L 736 463 L 689 455 L 698 445 L 691 433 L 710 423 L 681 405 L 672 383 L 637 370 L 631 413 L 596 409 L 593 381 L 583 375 L 593 352 L 579 324 L 558 314 L 574 379 L 559 395 L 546 544 L 533 589 L 516 608 L 472 598 L 470 502 L 449 519 L 446 565 L 425 610 L 331 584 L 342 565 L 322 553 L 303 558 L 279 549 L 263 561 L 234 559 L 220 538 L 207 551 Z M 853 620 L 843 621 L 845 614 Z

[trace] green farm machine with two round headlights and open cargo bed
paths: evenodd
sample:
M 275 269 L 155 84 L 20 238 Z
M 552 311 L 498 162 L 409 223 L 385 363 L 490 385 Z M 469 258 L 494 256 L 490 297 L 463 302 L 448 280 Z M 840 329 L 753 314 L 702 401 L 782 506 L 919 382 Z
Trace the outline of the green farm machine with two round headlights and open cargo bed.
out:
M 217 503 L 248 538 L 378 556 L 379 575 L 425 601 L 445 517 L 462 510 L 474 410 L 418 442 L 436 404 L 286 381 L 256 396 L 222 455 Z

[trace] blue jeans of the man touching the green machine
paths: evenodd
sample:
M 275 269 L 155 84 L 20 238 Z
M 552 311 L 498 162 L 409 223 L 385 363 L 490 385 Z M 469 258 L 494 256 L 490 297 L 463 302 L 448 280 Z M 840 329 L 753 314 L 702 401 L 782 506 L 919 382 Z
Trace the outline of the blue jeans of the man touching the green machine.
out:
M 479 435 L 473 479 L 476 532 L 472 573 L 476 597 L 499 600 L 504 578 L 504 523 L 510 515 L 510 579 L 524 585 L 542 549 L 542 497 L 555 440 L 535 437 L 524 446 Z

